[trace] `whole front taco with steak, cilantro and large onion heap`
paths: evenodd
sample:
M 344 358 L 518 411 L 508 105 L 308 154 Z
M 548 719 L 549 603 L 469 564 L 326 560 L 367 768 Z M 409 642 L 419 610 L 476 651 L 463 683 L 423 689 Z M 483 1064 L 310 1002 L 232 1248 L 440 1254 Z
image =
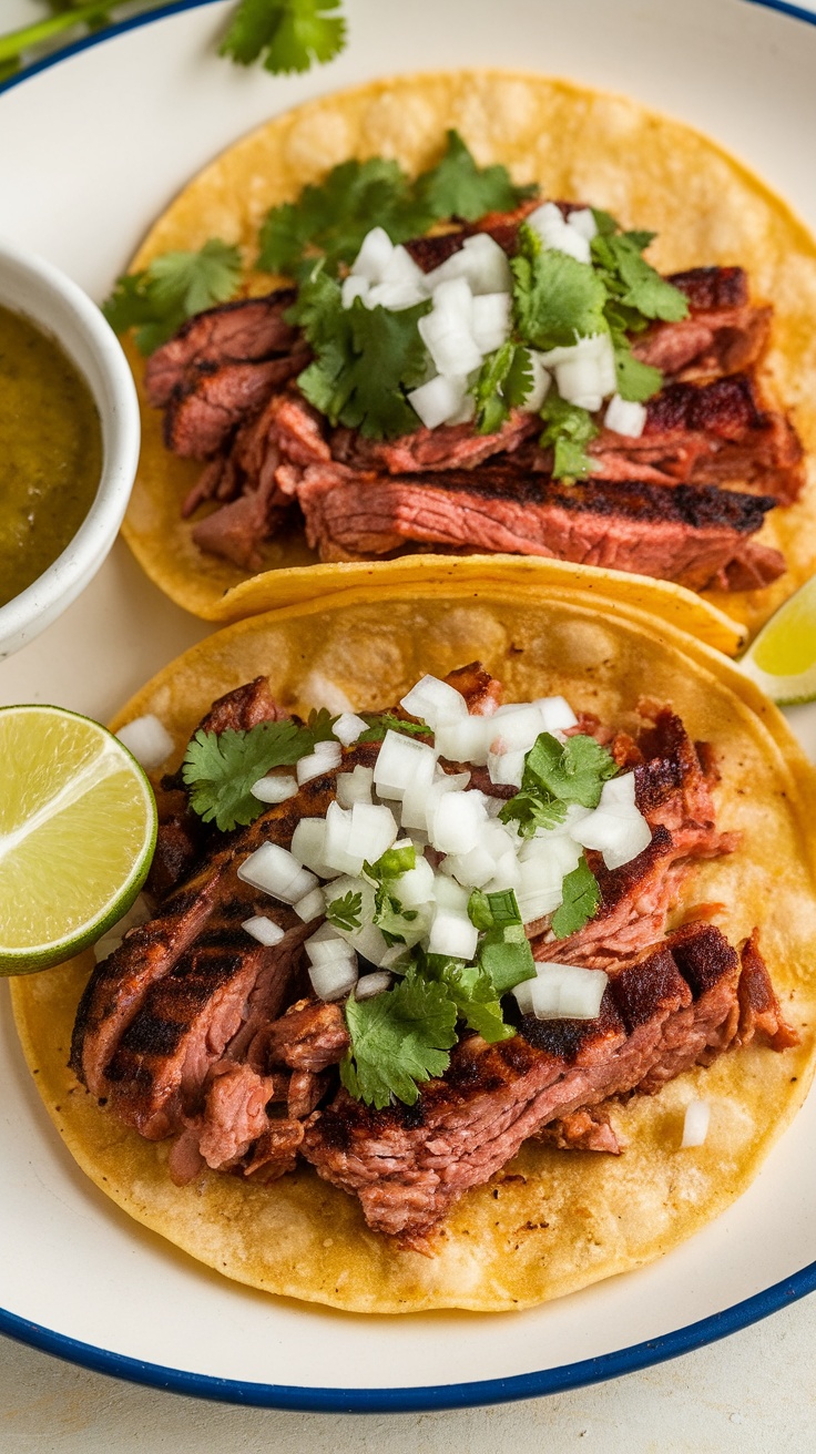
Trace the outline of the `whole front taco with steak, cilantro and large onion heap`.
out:
M 13 1000 L 132 1217 L 271 1293 L 509 1310 L 746 1188 L 813 1075 L 813 778 L 721 656 L 611 606 L 349 592 L 119 714 L 173 740 L 150 919 Z

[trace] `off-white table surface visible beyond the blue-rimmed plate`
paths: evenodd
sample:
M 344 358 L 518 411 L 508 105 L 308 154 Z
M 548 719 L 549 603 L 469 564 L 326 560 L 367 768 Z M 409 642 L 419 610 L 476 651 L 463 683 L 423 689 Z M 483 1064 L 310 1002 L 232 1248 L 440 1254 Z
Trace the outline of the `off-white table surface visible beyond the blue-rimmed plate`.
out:
M 816 10 L 816 0 L 799 3 Z M 3 31 L 41 15 L 33 0 L 0 0 Z M 0 1338 L 0 1454 L 809 1454 L 815 1349 L 809 1297 L 723 1342 L 589 1389 L 490 1409 L 343 1418 L 159 1393 Z

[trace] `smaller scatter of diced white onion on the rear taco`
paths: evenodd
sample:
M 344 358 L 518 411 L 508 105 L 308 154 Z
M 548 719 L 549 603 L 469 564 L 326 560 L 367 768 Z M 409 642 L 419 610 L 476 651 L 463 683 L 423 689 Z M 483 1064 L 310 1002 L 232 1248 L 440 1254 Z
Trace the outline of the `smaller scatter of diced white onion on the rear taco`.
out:
M 589 244 L 596 225 L 591 208 L 564 218 L 554 202 L 544 202 L 525 221 L 545 249 L 592 266 Z M 417 323 L 428 350 L 429 377 L 409 393 L 409 403 L 426 429 L 473 419 L 474 375 L 512 330 L 512 273 L 495 238 L 489 233 L 467 237 L 458 252 L 426 273 L 401 243 L 394 246 L 383 227 L 374 227 L 342 285 L 346 308 L 358 298 L 367 308 L 381 307 L 391 313 L 431 300 L 431 311 Z M 591 413 L 609 400 L 604 416 L 608 429 L 633 439 L 643 432 L 646 409 L 617 393 L 608 333 L 576 337 L 573 345 L 544 353 L 528 349 L 528 353 L 532 385 L 521 406 L 525 411 L 538 413 L 554 378 L 563 400 Z

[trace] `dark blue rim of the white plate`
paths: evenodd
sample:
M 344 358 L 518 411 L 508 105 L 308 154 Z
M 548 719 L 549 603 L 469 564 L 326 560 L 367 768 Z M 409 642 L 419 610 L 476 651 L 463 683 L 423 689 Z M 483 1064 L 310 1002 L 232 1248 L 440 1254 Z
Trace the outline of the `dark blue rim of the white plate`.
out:
M 12 87 L 20 86 L 31 76 L 36 76 L 51 65 L 58 65 L 92 45 L 100 45 L 116 35 L 163 20 L 170 15 L 199 10 L 205 4 L 215 3 L 217 0 L 175 0 L 159 10 L 131 16 L 129 20 L 122 20 L 96 35 L 84 36 L 81 41 L 29 65 L 20 74 L 12 76 L 0 84 L 0 96 Z M 787 0 L 746 0 L 746 3 L 761 6 L 764 10 L 777 10 L 780 15 L 816 26 L 816 13 L 788 4 Z M 125 1354 L 95 1348 L 93 1343 L 81 1343 L 65 1333 L 41 1328 L 39 1323 L 29 1323 L 25 1317 L 17 1317 L 16 1313 L 9 1313 L 6 1309 L 0 1309 L 0 1333 L 28 1343 L 31 1348 L 38 1348 L 41 1352 L 63 1358 L 65 1362 L 80 1364 L 93 1373 L 106 1373 L 115 1378 L 127 1378 L 129 1383 L 141 1383 L 151 1389 L 164 1389 L 169 1393 L 182 1393 L 195 1399 L 215 1399 L 221 1403 L 243 1403 L 253 1407 L 305 1413 L 420 1413 L 429 1409 L 467 1409 L 486 1403 L 511 1403 L 516 1399 L 535 1399 L 545 1393 L 564 1393 L 567 1389 L 580 1389 L 607 1378 L 620 1378 L 621 1374 L 650 1368 L 653 1364 L 666 1362 L 669 1358 L 678 1358 L 679 1354 L 694 1352 L 697 1348 L 704 1348 L 705 1343 L 714 1343 L 720 1338 L 737 1333 L 742 1328 L 749 1328 L 751 1323 L 758 1323 L 815 1291 L 816 1262 L 810 1262 L 791 1277 L 774 1282 L 772 1287 L 755 1293 L 753 1297 L 746 1297 L 742 1303 L 735 1303 L 733 1307 L 724 1309 L 721 1313 L 713 1313 L 710 1317 L 688 1323 L 687 1328 L 678 1328 L 662 1338 L 631 1343 L 612 1354 L 563 1364 L 559 1368 L 544 1368 L 540 1373 L 516 1374 L 512 1378 L 428 1384 L 416 1389 L 305 1389 L 295 1384 L 241 1383 L 239 1378 L 215 1378 L 209 1374 L 185 1373 L 180 1368 L 164 1368 L 161 1364 L 141 1362 L 138 1358 L 125 1357 Z

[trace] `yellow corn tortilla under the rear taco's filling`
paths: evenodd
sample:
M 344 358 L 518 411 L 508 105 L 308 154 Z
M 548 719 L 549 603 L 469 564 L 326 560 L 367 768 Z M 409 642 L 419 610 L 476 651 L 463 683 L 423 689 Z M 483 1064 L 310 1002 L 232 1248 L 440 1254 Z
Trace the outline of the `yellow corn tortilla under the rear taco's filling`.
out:
M 547 196 L 586 199 L 612 211 L 624 227 L 656 231 L 650 259 L 663 272 L 745 266 L 753 295 L 775 307 L 764 374 L 791 407 L 804 448 L 813 454 L 813 238 L 778 196 L 714 141 L 636 100 L 570 81 L 497 70 L 444 71 L 372 81 L 308 102 L 266 122 L 193 177 L 150 230 L 132 268 L 221 237 L 243 250 L 244 291 L 265 292 L 276 279 L 253 272 L 252 263 L 271 206 L 294 201 L 303 186 L 320 182 L 349 157 L 396 157 L 416 173 L 438 158 L 448 126 L 458 128 L 481 166 L 505 163 L 515 180 L 535 180 Z M 124 534 L 161 590 L 195 615 L 227 622 L 369 580 L 368 563 L 316 564 L 298 528 L 266 542 L 256 576 L 201 551 L 191 522 L 180 518 L 180 503 L 202 467 L 164 449 L 161 414 L 144 398 L 144 361 L 132 342 L 127 346 L 141 391 L 143 448 Z M 758 538 L 783 551 L 787 573 L 762 590 L 704 596 L 751 631 L 816 569 L 813 461 L 801 500 L 774 510 Z M 445 557 L 409 557 L 415 570 L 433 570 L 439 561 Z M 516 561 L 470 557 L 477 569 L 502 579 Z M 529 570 L 544 564 L 535 557 L 524 561 Z M 694 631 L 700 605 L 692 605 L 691 592 L 671 589 L 688 598 L 687 625 Z M 663 601 L 655 595 L 657 615 Z

